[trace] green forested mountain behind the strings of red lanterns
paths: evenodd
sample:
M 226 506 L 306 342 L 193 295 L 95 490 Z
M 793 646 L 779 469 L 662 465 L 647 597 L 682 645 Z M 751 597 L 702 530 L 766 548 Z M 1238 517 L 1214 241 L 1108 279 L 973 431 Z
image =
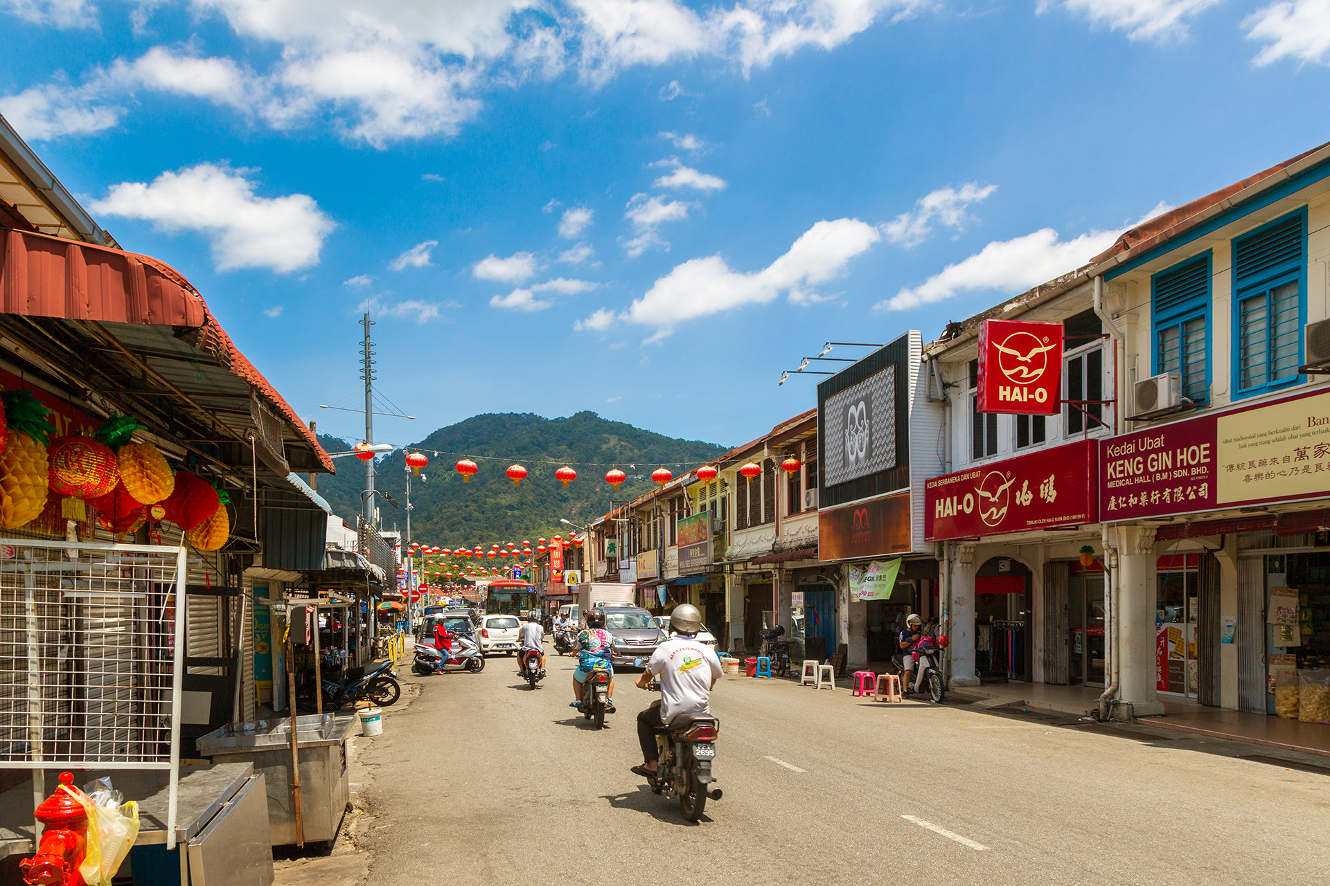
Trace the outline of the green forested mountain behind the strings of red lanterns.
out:
M 319 444 L 329 452 L 351 448 L 350 442 L 327 434 L 319 434 Z M 568 527 L 560 518 L 585 525 L 606 513 L 612 502 L 652 489 L 650 474 L 657 468 L 678 477 L 726 450 L 716 444 L 676 440 L 608 421 L 595 412 L 567 418 L 529 413 L 472 416 L 439 428 L 412 448 L 423 450 L 430 465 L 420 477 L 411 478 L 411 537 L 439 547 L 488 547 L 495 542 L 567 535 Z M 463 457 L 480 468 L 468 482 L 462 482 L 454 468 Z M 504 473 L 512 464 L 528 472 L 520 487 L 513 487 Z M 555 472 L 565 464 L 577 472 L 577 480 L 567 489 L 555 478 Z M 318 490 L 354 526 L 360 511 L 364 466 L 351 457 L 338 458 L 336 466 L 336 474 L 319 476 Z M 641 478 L 629 480 L 616 490 L 605 482 L 610 468 Z M 404 531 L 410 473 L 406 454 L 398 450 L 380 457 L 375 472 L 375 486 L 399 505 L 394 509 L 380 497 L 379 521 L 386 529 Z

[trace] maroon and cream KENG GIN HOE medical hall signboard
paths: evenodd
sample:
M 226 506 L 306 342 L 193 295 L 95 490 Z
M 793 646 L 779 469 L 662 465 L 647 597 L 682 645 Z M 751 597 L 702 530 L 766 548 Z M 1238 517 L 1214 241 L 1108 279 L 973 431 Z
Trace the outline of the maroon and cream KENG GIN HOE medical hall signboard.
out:
M 1330 393 L 1201 416 L 1104 441 L 1105 521 L 1322 497 Z

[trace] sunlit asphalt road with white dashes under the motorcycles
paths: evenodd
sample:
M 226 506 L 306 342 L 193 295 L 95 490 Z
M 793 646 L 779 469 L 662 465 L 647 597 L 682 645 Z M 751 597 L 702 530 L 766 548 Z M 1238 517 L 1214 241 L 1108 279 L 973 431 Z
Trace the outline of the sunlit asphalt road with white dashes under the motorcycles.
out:
M 532 692 L 508 658 L 422 692 L 360 740 L 368 882 L 1326 883 L 1330 778 L 1157 729 L 722 677 L 700 824 L 628 768 L 656 696 L 620 675 L 593 729 L 573 659 Z M 1172 733 L 1177 735 L 1177 733 Z

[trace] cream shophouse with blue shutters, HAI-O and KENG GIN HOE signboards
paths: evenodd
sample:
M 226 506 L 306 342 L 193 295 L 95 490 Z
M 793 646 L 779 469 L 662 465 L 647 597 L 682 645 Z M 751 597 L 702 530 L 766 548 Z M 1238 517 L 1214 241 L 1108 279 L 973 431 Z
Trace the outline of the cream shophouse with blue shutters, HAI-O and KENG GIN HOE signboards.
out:
M 954 683 L 1103 685 L 1119 715 L 1273 712 L 1282 672 L 1330 663 L 1327 193 L 1322 146 L 930 345 Z M 1055 413 L 975 405 L 994 368 L 971 363 L 976 336 L 999 316 L 1060 327 Z

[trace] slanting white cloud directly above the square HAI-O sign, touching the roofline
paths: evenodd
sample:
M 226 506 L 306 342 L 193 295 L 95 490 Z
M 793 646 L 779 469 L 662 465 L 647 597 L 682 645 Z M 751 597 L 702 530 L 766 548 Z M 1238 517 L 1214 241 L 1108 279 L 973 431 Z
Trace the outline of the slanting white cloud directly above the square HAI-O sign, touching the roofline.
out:
M 1160 203 L 1141 218 L 1141 222 L 1170 209 L 1166 203 Z M 990 290 L 1004 294 L 1023 292 L 1081 267 L 1112 246 L 1123 230 L 1125 228 L 1088 231 L 1075 239 L 1063 240 L 1059 239 L 1057 231 L 1045 227 L 1009 240 L 994 240 L 975 255 L 948 264 L 919 286 L 902 288 L 872 307 L 875 311 L 904 311 L 920 304 L 943 302 L 963 292 Z

